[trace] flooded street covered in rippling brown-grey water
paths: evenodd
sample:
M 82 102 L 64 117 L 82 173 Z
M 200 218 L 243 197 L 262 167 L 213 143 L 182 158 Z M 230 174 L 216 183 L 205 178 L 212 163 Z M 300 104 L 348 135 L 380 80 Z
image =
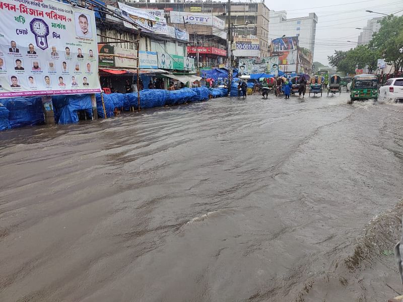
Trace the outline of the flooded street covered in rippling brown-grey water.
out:
M 214 99 L 0 133 L 0 301 L 386 301 L 403 105 Z

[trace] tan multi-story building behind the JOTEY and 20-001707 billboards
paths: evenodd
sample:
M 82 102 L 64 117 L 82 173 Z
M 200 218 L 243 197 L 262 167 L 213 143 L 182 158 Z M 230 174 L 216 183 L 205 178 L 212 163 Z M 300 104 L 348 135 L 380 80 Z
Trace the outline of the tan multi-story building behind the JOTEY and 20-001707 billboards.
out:
M 165 10 L 167 20 L 171 25 L 184 29 L 189 33 L 189 55 L 199 56 L 199 62 L 203 67 L 213 67 L 224 63 L 227 59 L 227 32 L 228 32 L 228 8 L 223 2 L 174 2 L 158 0 L 157 3 L 135 2 L 127 0 L 127 5 L 137 8 Z M 174 21 L 171 12 L 208 14 L 221 19 L 224 27 L 203 26 L 189 24 L 185 20 Z M 264 3 L 232 3 L 231 20 L 233 37 L 255 37 L 259 39 L 259 56 L 268 56 L 270 41 L 268 39 L 269 10 Z M 172 13 L 173 14 L 173 13 Z M 176 14 L 177 15 L 177 14 Z M 185 15 L 185 14 L 184 14 Z M 176 19 L 175 19 L 176 20 Z M 174 23 L 175 22 L 175 23 Z M 196 53 L 197 52 L 197 53 Z

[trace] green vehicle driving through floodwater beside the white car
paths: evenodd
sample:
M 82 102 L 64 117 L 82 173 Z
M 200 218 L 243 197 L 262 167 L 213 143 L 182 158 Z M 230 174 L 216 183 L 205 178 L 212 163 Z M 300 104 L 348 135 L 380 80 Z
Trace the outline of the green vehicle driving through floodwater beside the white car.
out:
M 367 99 L 378 99 L 378 78 L 373 74 L 358 74 L 351 82 L 349 103 Z

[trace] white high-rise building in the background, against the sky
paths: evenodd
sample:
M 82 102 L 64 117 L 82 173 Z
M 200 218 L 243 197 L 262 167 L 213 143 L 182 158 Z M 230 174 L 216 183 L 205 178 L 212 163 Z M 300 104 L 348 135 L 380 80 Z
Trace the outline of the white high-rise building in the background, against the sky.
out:
M 287 36 L 297 36 L 299 47 L 309 49 L 312 58 L 315 50 L 315 35 L 318 16 L 315 13 L 310 13 L 308 17 L 287 19 L 286 11 L 270 11 L 270 40 Z

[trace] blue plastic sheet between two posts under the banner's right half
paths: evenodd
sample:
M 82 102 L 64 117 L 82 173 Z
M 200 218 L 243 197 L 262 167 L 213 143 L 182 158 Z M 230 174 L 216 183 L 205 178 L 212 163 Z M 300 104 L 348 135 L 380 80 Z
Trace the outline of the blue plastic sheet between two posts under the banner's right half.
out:
M 77 111 L 86 111 L 92 117 L 91 95 L 53 96 L 55 121 L 58 124 L 78 123 Z

